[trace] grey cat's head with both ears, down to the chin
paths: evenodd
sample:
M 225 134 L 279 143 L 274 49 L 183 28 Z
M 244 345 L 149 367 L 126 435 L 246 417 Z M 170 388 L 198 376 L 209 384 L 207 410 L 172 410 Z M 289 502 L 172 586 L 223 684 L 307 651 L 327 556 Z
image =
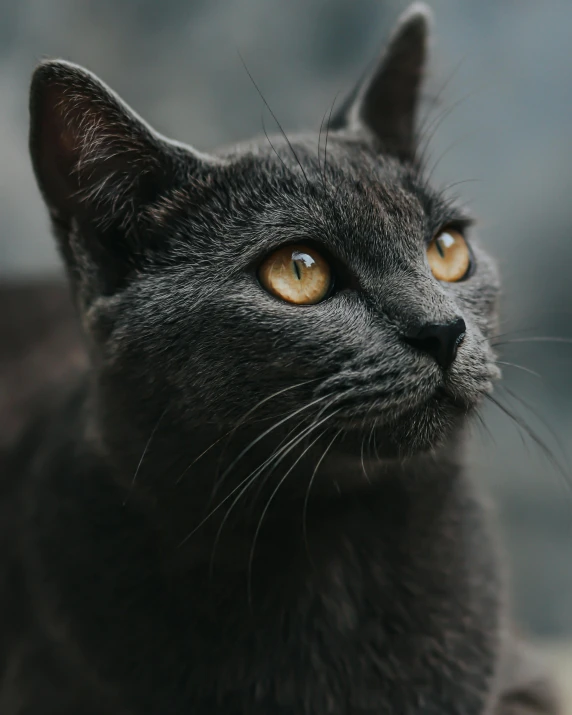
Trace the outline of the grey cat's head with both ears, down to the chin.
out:
M 113 449 L 249 415 L 414 454 L 490 390 L 494 267 L 417 156 L 427 35 L 415 5 L 321 134 L 211 155 L 75 65 L 36 70 L 33 165 Z

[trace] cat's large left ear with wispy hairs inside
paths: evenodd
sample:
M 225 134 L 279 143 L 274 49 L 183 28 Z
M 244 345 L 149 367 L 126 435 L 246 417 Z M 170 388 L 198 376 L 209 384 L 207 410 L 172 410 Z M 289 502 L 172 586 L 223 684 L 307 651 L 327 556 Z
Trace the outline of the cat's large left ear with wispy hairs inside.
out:
M 63 61 L 45 62 L 33 75 L 30 153 L 72 279 L 98 273 L 109 290 L 144 253 L 142 208 L 208 161 L 166 140 L 93 74 Z

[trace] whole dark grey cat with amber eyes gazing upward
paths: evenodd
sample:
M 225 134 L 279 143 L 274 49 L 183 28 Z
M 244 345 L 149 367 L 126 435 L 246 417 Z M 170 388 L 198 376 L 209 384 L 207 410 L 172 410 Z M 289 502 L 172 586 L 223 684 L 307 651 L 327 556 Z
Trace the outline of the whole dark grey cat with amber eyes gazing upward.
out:
M 2 715 L 525 715 L 466 425 L 499 279 L 416 131 L 430 12 L 319 135 L 212 154 L 47 61 L 89 366 L 3 456 Z

